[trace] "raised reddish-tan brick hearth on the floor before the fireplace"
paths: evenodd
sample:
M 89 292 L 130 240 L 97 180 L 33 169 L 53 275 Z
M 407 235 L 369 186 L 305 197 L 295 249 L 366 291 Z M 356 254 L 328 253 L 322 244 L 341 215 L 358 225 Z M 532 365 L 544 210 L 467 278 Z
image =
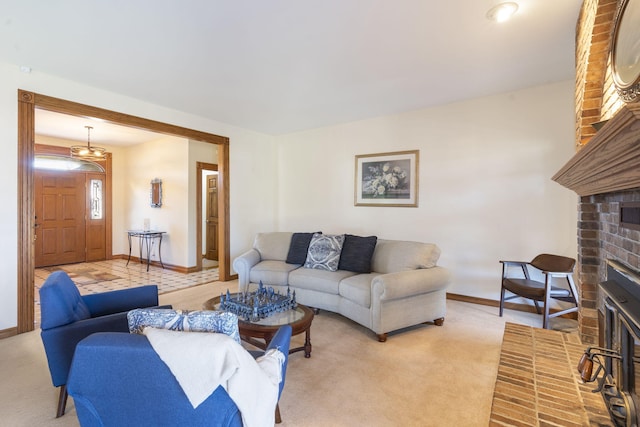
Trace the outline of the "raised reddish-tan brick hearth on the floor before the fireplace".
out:
M 490 426 L 612 426 L 594 383 L 576 365 L 585 346 L 576 334 L 507 323 Z

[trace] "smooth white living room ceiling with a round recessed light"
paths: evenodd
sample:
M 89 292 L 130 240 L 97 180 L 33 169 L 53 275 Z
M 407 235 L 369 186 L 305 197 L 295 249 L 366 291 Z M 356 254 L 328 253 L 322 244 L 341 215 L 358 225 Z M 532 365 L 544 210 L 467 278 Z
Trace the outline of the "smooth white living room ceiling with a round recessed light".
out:
M 2 0 L 0 60 L 273 135 L 574 78 L 582 0 L 495 3 Z

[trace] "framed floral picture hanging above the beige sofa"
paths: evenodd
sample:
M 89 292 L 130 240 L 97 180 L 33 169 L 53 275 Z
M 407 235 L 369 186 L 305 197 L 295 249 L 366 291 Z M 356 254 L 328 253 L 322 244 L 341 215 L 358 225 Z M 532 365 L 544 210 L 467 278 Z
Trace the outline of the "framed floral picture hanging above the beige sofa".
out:
M 355 205 L 418 207 L 420 152 L 356 156 Z

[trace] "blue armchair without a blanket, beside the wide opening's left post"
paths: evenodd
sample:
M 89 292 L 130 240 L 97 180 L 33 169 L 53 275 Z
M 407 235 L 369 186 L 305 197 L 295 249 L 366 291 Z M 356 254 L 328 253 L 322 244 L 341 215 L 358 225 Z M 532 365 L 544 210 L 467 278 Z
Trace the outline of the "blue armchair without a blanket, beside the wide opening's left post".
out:
M 94 332 L 128 332 L 128 310 L 157 305 L 155 285 L 82 296 L 64 271 L 47 277 L 40 288 L 40 336 L 51 381 L 60 387 L 56 417 L 64 415 L 67 376 L 78 342 Z

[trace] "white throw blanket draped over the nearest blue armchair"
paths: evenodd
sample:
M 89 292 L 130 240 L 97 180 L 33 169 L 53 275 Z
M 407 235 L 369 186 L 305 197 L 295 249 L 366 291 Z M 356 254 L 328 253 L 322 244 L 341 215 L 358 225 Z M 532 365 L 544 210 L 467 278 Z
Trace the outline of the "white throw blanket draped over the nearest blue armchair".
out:
M 245 427 L 273 426 L 284 355 L 270 350 L 257 362 L 225 334 L 145 328 L 151 346 L 197 408 L 221 385 Z

